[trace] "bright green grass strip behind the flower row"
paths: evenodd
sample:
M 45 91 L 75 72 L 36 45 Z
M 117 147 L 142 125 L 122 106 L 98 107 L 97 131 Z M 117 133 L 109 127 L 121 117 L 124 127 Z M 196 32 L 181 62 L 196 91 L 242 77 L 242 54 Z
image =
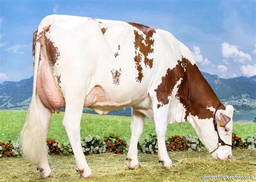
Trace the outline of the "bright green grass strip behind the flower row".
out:
M 53 114 L 50 122 L 48 138 L 63 143 L 68 141 L 65 129 L 62 126 L 64 113 Z M 21 132 L 26 117 L 24 110 L 0 110 L 0 141 L 6 142 L 12 139 L 17 142 L 19 132 Z M 130 139 L 131 117 L 125 116 L 108 116 L 83 114 L 81 121 L 81 136 L 99 135 L 104 137 L 111 133 L 117 134 L 122 138 Z M 154 132 L 153 123 L 146 119 L 143 138 Z M 242 138 L 250 134 L 256 134 L 256 123 L 234 123 L 233 132 Z M 196 135 L 190 123 L 174 123 L 167 128 L 166 137 L 172 135 Z

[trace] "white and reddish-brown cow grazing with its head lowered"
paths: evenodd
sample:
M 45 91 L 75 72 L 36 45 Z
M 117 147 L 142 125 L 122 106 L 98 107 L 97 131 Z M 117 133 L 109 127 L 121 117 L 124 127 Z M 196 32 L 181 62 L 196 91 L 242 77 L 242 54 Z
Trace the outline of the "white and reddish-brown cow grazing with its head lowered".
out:
M 98 114 L 132 107 L 129 169 L 139 167 L 144 119 L 155 125 L 159 162 L 173 167 L 167 125 L 188 121 L 215 159 L 232 157 L 233 107 L 221 104 L 192 53 L 164 30 L 138 23 L 46 16 L 33 34 L 33 93 L 21 132 L 23 155 L 51 176 L 46 135 L 52 113 L 65 108 L 63 126 L 76 170 L 92 177 L 80 143 L 84 107 Z

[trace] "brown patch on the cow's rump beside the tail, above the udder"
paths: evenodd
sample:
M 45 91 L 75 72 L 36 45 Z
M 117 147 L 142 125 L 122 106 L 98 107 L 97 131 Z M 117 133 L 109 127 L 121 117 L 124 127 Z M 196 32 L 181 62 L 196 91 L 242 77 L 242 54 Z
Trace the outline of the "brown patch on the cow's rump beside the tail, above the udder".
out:
M 56 64 L 57 60 L 59 59 L 60 53 L 58 47 L 55 46 L 53 41 L 51 41 L 49 38 L 44 37 L 44 43 L 46 47 L 46 53 L 48 56 L 49 64 L 51 68 L 54 68 L 54 65 Z

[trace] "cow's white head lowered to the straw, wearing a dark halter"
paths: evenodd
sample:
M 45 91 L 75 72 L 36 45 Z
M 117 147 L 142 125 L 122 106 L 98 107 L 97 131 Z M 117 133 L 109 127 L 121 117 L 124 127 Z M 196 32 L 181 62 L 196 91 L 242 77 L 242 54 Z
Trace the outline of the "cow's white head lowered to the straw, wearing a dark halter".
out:
M 215 113 L 215 122 L 217 122 L 217 130 L 220 139 L 228 145 L 232 145 L 232 129 L 233 129 L 233 106 L 226 106 L 226 109 L 218 109 Z M 214 109 L 215 112 L 215 109 Z M 217 131 L 214 129 L 214 116 L 212 118 L 199 119 L 197 116 L 188 116 L 188 122 L 196 130 L 200 141 L 212 153 L 215 159 L 232 158 L 232 148 L 228 145 L 221 145 Z

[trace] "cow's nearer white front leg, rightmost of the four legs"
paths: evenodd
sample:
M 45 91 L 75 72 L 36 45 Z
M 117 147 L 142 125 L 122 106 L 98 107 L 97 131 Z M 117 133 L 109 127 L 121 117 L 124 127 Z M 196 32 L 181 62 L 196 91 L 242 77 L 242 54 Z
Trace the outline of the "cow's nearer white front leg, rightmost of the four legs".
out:
M 167 107 L 166 107 L 167 108 Z M 168 156 L 165 145 L 165 133 L 167 129 L 167 109 L 159 108 L 154 110 L 154 124 L 157 133 L 158 159 L 164 168 L 173 168 L 172 161 Z

